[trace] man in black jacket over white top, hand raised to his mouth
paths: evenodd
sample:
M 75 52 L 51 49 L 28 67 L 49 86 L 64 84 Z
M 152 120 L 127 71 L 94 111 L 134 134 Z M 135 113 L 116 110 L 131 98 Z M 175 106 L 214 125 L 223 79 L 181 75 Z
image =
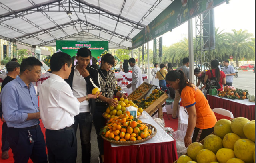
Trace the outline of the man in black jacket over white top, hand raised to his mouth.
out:
M 71 68 L 71 73 L 65 81 L 71 87 L 76 98 L 86 96 L 92 93 L 93 88 L 99 88 L 100 81 L 98 71 L 88 64 L 92 57 L 91 51 L 82 47 L 77 51 L 77 64 Z M 82 163 L 91 162 L 91 131 L 92 131 L 92 114 L 94 113 L 95 100 L 90 99 L 80 103 L 80 111 L 74 117 L 74 131 L 76 134 L 78 124 L 82 148 Z

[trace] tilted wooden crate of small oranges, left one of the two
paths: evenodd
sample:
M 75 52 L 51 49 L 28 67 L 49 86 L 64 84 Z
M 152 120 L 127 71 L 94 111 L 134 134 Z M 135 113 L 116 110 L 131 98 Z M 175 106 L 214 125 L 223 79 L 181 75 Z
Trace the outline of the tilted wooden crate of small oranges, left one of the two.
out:
M 150 88 L 152 88 L 153 85 L 148 84 L 147 82 L 143 82 L 136 90 L 134 90 L 129 96 L 128 99 L 132 101 L 136 101 L 137 99 L 144 97 Z

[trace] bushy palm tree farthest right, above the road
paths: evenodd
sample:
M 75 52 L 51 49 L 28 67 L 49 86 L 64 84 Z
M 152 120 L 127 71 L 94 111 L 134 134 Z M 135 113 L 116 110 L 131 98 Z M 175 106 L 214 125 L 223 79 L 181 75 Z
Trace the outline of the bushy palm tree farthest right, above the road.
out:
M 236 59 L 236 65 L 239 67 L 239 59 L 244 57 L 250 57 L 254 55 L 254 51 L 251 47 L 255 47 L 255 44 L 251 41 L 252 33 L 248 33 L 247 30 L 236 31 L 232 29 L 233 33 L 227 33 L 227 43 L 232 49 L 233 58 Z

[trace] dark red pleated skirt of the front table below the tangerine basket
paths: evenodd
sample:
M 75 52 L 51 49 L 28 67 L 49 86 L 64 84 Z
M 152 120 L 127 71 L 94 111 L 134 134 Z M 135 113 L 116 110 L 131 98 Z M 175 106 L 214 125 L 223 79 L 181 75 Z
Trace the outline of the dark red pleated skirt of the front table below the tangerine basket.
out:
M 176 141 L 111 147 L 104 140 L 105 163 L 173 163 L 178 159 Z

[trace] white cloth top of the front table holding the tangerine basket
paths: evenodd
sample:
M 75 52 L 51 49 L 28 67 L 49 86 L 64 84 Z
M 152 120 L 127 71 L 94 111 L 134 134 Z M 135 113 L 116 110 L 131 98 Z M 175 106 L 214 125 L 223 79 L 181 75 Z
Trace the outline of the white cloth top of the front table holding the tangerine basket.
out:
M 143 143 L 139 143 L 139 144 L 134 144 L 134 145 L 140 145 L 140 144 L 154 144 L 154 143 L 164 143 L 164 142 L 170 142 L 173 141 L 174 139 L 172 139 L 171 136 L 169 136 L 157 123 L 156 121 L 147 113 L 147 112 L 142 112 L 142 114 L 145 114 L 146 117 L 148 117 L 148 119 L 142 119 L 141 116 L 139 119 L 144 122 L 144 123 L 148 123 L 148 124 L 152 124 L 153 126 L 155 126 L 157 133 L 156 135 L 148 140 L 145 141 Z M 111 147 L 120 147 L 122 145 L 115 145 L 115 144 L 111 144 Z

